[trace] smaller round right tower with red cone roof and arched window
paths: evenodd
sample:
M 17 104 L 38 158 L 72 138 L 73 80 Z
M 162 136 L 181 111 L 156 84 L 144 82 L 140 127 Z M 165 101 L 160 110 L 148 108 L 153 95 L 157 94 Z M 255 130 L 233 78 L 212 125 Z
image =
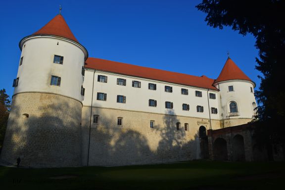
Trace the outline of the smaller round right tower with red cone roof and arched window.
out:
M 222 127 L 242 125 L 252 120 L 256 114 L 255 83 L 231 58 L 226 61 L 214 86 L 220 90 Z

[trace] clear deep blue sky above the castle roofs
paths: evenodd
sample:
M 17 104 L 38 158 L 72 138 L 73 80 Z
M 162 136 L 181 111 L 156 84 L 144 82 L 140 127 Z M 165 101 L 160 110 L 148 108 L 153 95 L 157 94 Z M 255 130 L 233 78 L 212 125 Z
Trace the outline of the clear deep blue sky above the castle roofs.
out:
M 257 88 L 255 39 L 214 29 L 201 0 L 0 0 L 0 89 L 13 95 L 20 40 L 62 15 L 90 57 L 216 79 L 227 51 Z M 257 89 L 255 88 L 255 89 Z

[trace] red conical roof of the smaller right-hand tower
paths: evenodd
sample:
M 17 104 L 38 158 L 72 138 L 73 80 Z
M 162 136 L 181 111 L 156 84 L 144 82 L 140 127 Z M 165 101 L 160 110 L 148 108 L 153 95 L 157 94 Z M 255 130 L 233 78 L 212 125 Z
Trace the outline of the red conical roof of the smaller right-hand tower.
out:
M 215 80 L 214 83 L 228 81 L 228 80 L 247 80 L 251 81 L 241 70 L 238 68 L 236 63 L 229 57 L 220 73 L 219 77 Z M 252 81 L 251 81 L 252 82 Z

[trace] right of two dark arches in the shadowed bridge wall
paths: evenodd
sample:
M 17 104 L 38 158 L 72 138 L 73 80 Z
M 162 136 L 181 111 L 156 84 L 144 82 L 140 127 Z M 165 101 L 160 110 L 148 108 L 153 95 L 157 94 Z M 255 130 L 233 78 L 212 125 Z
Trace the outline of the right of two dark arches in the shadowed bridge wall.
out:
M 234 161 L 245 161 L 244 142 L 241 135 L 236 135 L 233 139 Z

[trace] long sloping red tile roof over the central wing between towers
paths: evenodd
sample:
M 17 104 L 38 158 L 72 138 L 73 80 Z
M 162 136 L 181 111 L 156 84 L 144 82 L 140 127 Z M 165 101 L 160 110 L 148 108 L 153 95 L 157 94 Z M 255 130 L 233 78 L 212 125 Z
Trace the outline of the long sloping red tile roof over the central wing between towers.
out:
M 210 79 L 204 75 L 201 77 L 196 77 L 182 73 L 175 73 L 170 71 L 120 63 L 94 57 L 89 57 L 86 60 L 85 67 L 128 76 L 142 77 L 145 79 L 152 79 L 157 81 L 164 81 L 174 84 L 200 87 L 218 91 L 218 89 L 212 85 L 214 83 L 214 79 Z

